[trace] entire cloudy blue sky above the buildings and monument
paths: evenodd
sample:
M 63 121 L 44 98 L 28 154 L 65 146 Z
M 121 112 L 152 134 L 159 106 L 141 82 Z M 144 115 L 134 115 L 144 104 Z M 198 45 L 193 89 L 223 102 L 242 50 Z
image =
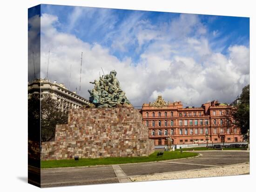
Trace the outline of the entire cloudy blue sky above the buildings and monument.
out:
M 249 84 L 249 18 L 41 5 L 40 14 L 28 14 L 28 38 L 36 37 L 40 77 L 50 50 L 48 79 L 78 93 L 83 52 L 80 95 L 87 99 L 101 68 L 117 71 L 134 106 L 158 95 L 184 106 L 230 103 Z

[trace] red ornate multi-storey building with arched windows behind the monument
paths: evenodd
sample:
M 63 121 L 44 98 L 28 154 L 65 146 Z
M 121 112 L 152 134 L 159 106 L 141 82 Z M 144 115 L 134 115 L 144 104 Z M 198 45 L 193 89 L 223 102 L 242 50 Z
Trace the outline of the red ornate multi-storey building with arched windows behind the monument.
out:
M 182 102 L 155 102 L 142 105 L 142 120 L 148 126 L 149 138 L 155 145 L 242 142 L 240 129 L 232 123 L 231 106 L 217 101 L 202 107 L 183 108 Z M 208 134 L 208 136 L 207 136 Z

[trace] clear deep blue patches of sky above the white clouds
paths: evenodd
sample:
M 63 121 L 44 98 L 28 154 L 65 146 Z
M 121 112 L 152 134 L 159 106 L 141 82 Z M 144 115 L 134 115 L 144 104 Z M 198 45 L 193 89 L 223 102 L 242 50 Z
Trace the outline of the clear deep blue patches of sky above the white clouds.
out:
M 77 11 L 77 8 L 80 8 L 81 11 Z M 78 18 L 74 19 L 76 12 L 81 13 L 79 13 Z M 82 12 L 86 14 L 82 14 Z M 102 14 L 102 12 L 104 13 Z M 85 42 L 99 43 L 106 47 L 111 47 L 113 43 L 113 39 L 106 38 L 106 35 L 113 33 L 118 35 L 120 28 L 123 27 L 122 24 L 130 17 L 148 20 L 150 24 L 159 27 L 169 24 L 173 19 L 180 16 L 180 13 L 58 5 L 42 5 L 41 14 L 43 13 L 58 17 L 59 23 L 55 26 L 58 31 L 69 32 Z M 102 15 L 105 17 L 104 19 L 107 18 L 103 23 L 99 22 Z M 198 17 L 207 29 L 205 35 L 209 37 L 213 50 L 227 54 L 230 45 L 249 46 L 249 18 L 215 15 L 198 15 Z M 216 33 L 216 36 L 212 36 L 213 33 Z M 121 60 L 124 57 L 131 57 L 136 63 L 141 52 L 143 52 L 143 48 L 141 51 L 135 51 L 136 46 L 138 46 L 138 42 L 135 41 L 127 45 L 127 51 L 112 50 L 111 53 Z M 144 46 L 147 46 L 147 44 Z

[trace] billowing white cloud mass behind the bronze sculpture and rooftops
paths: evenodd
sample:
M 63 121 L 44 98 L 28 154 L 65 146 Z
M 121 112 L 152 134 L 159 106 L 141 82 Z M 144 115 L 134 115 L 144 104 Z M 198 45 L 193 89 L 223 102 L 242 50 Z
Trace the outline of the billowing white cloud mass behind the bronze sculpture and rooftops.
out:
M 115 33 L 111 47 L 125 51 L 135 38 L 140 42 L 137 46 L 153 39 L 154 42 L 141 50 L 139 61 L 132 63 L 132 58 L 120 60 L 111 55 L 111 48 L 98 43 L 89 44 L 72 34 L 58 32 L 54 27 L 58 18 L 43 14 L 41 77 L 46 76 L 48 50 L 51 48 L 48 76 L 52 81 L 68 85 L 72 64 L 71 90 L 79 88 L 80 57 L 83 52 L 81 96 L 85 98 L 89 96 L 87 90 L 93 88 L 88 82 L 98 78 L 99 72 L 102 74 L 101 67 L 105 74 L 114 69 L 117 71 L 121 88 L 135 106 L 152 102 L 158 94 L 169 101 L 180 100 L 184 105 L 201 106 L 211 99 L 232 102 L 243 86 L 249 83 L 249 48 L 231 46 L 228 56 L 213 52 L 206 38 L 189 36 L 195 26 L 202 26 L 197 16 L 182 14 L 170 23 L 171 32 L 183 37 L 179 40 L 165 39 L 168 37 L 166 32 L 160 32 L 157 27 L 140 18 L 141 15 L 135 15 L 130 22 L 125 21 L 122 24 L 124 29 L 119 35 Z M 134 25 L 137 31 L 127 35 L 128 31 L 133 31 Z

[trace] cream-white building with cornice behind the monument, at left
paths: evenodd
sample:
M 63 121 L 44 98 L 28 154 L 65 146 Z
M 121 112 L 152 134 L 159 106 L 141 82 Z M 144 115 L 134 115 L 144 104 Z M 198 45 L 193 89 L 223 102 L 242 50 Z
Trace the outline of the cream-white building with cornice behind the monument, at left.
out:
M 50 94 L 52 98 L 60 101 L 67 102 L 71 105 L 71 108 L 77 109 L 82 105 L 88 105 L 90 102 L 77 95 L 76 92 L 68 90 L 64 83 L 50 82 L 48 79 L 35 79 L 33 82 L 28 82 L 28 98 L 31 94 L 39 94 L 41 89 L 41 97 L 44 94 Z

